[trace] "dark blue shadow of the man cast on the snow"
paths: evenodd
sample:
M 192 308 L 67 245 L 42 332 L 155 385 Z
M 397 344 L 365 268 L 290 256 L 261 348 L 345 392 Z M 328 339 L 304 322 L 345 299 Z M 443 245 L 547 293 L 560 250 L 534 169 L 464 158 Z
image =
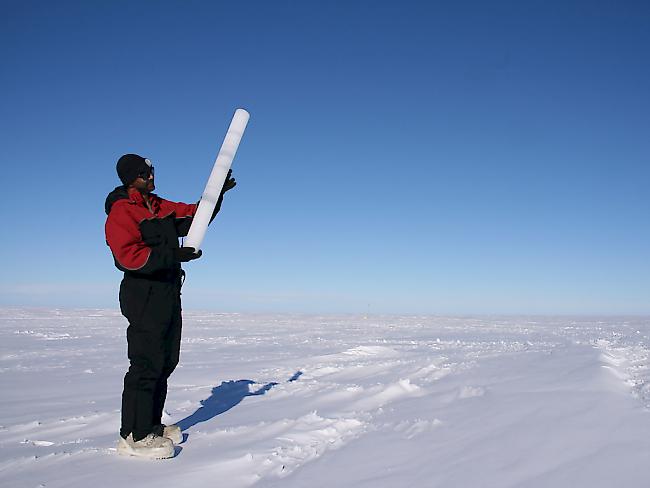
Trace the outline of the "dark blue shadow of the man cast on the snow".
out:
M 296 381 L 301 375 L 302 371 L 297 371 L 287 380 L 287 382 Z M 278 384 L 276 382 L 271 382 L 255 391 L 250 391 L 250 385 L 254 385 L 255 383 L 256 382 L 252 380 L 231 380 L 222 382 L 219 386 L 212 388 L 212 392 L 208 398 L 201 400 L 201 406 L 193 414 L 185 417 L 179 422 L 176 422 L 176 425 L 180 427 L 181 431 L 186 431 L 196 424 L 206 422 L 217 415 L 227 412 L 231 408 L 239 405 L 246 397 L 264 395 L 267 391 Z M 183 437 L 183 441 L 185 441 L 187 434 L 184 434 Z

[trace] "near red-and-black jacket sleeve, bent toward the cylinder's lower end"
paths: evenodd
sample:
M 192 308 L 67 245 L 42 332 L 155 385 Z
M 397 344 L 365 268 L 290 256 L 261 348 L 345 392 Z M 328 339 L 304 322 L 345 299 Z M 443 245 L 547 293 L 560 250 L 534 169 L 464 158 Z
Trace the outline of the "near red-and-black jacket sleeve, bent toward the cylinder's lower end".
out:
M 142 240 L 139 222 L 129 215 L 127 205 L 113 205 L 106 219 L 106 243 L 115 265 L 122 271 L 151 274 L 172 267 L 176 260 L 167 246 L 148 246 Z

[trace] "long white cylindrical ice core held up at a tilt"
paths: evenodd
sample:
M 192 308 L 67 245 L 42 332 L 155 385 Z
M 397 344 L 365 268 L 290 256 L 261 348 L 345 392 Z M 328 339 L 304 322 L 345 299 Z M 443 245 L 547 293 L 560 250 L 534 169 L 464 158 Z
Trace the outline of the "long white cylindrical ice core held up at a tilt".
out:
M 239 147 L 239 142 L 244 134 L 249 117 L 250 115 L 246 110 L 241 108 L 235 110 L 235 115 L 232 117 L 230 127 L 228 127 L 228 132 L 212 167 L 212 173 L 210 173 L 208 183 L 205 185 L 199 208 L 194 215 L 183 247 L 193 247 L 197 252 L 201 248 L 205 231 L 210 223 L 210 217 L 212 217 L 212 212 L 221 194 L 221 188 L 223 188 L 223 184 L 226 181 L 228 170 Z

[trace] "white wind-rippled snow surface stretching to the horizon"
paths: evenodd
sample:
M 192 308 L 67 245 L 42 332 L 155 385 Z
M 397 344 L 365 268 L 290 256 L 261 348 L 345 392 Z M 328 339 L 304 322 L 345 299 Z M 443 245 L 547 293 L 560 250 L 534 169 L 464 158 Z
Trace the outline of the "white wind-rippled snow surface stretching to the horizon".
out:
M 125 327 L 0 309 L 0 486 L 650 486 L 647 318 L 185 312 L 165 461 L 115 452 Z

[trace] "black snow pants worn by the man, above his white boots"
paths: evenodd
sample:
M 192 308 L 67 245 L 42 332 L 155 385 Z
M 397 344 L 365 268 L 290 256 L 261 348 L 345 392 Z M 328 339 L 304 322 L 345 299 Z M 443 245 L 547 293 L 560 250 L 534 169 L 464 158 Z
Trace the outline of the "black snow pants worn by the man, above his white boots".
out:
M 120 285 L 120 309 L 126 332 L 129 370 L 122 393 L 123 438 L 137 441 L 162 430 L 167 379 L 176 368 L 181 345 L 181 273 L 157 276 L 126 272 Z

